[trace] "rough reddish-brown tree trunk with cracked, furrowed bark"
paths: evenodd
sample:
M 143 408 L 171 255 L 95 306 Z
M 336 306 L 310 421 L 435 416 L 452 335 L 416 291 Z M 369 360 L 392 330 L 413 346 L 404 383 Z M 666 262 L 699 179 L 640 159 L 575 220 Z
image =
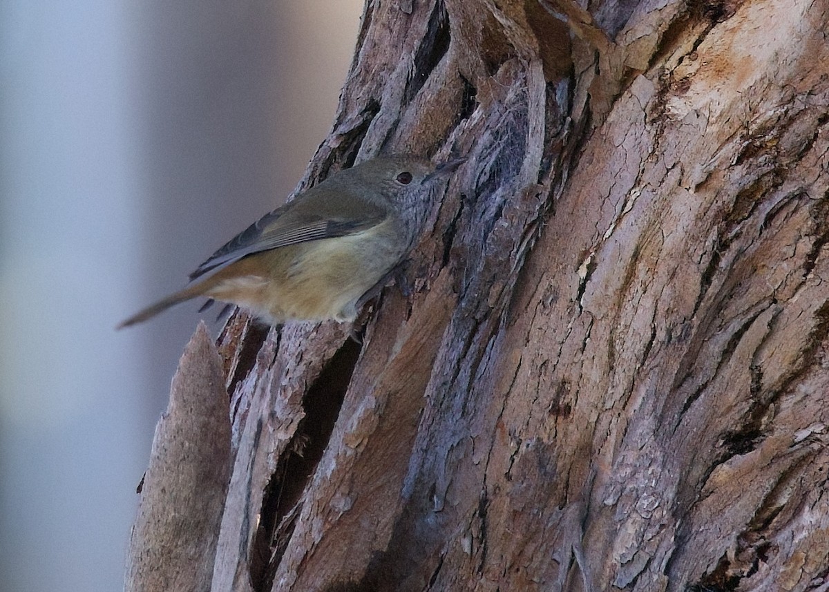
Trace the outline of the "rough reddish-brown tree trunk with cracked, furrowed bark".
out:
M 829 590 L 827 29 L 370 0 L 306 184 L 468 162 L 362 344 L 225 328 L 212 590 Z

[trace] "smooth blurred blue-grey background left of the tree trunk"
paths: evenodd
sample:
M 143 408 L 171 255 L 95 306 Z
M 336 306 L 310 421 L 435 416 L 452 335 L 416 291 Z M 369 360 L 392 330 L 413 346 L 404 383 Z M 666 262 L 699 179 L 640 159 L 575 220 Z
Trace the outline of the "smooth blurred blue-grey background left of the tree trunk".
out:
M 361 9 L 0 0 L 0 590 L 121 590 L 199 303 L 114 326 L 293 190 Z

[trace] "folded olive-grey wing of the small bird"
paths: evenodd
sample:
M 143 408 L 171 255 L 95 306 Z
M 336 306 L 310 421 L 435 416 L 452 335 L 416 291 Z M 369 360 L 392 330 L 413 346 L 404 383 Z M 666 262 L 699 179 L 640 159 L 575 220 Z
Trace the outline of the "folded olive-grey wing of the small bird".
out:
M 312 190 L 313 192 L 313 190 Z M 312 193 L 265 214 L 217 250 L 190 274 L 196 279 L 245 255 L 308 240 L 351 235 L 376 226 L 385 210 L 348 194 Z

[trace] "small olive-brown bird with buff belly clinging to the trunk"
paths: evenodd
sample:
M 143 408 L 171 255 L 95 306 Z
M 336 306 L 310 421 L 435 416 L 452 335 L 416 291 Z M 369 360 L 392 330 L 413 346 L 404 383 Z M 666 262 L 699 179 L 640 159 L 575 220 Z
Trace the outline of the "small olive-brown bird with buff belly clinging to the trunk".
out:
M 465 160 L 435 167 L 381 157 L 337 172 L 236 235 L 190 274 L 195 283 L 118 328 L 199 296 L 248 308 L 270 324 L 353 321 L 361 298 L 414 246 L 434 181 Z

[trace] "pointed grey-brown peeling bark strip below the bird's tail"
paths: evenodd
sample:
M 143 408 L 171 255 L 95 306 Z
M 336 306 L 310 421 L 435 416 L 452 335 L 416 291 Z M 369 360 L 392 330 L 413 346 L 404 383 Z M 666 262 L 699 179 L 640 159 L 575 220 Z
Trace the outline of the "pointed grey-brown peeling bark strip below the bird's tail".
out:
M 224 373 L 210 333 L 199 323 L 156 428 L 124 590 L 209 590 L 228 478 Z

